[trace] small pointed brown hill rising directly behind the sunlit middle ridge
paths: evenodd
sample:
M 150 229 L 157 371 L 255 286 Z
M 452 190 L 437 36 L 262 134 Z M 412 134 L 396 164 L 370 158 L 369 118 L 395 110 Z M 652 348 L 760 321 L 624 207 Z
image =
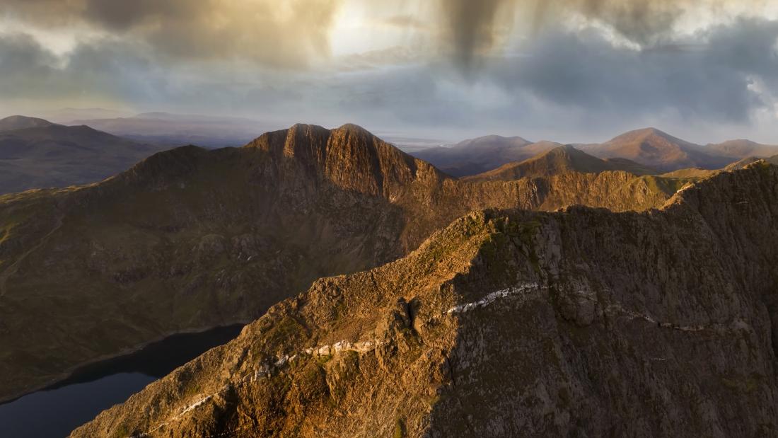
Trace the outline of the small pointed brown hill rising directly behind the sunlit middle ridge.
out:
M 495 170 L 479 173 L 463 180 L 517 180 L 523 177 L 552 177 L 560 173 L 602 173 L 624 170 L 636 175 L 652 175 L 657 171 L 629 159 L 599 159 L 571 145 L 558 146 L 519 163 L 508 163 Z

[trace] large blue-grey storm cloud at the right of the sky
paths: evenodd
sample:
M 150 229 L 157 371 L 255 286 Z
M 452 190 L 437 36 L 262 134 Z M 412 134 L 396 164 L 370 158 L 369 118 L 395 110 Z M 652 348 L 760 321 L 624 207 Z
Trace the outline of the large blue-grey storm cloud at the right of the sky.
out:
M 529 61 L 490 72 L 506 89 L 613 114 L 677 110 L 692 117 L 746 121 L 761 107 L 750 85 L 778 77 L 778 23 L 739 19 L 696 36 L 694 50 L 636 51 L 600 33 L 546 33 L 528 44 Z M 489 73 L 488 73 L 489 74 Z

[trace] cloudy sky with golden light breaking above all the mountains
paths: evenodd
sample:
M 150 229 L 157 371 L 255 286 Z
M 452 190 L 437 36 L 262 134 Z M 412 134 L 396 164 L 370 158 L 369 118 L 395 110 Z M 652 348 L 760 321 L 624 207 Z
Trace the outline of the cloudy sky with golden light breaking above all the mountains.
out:
M 778 144 L 778 2 L 3 0 L 0 114 L 61 107 Z

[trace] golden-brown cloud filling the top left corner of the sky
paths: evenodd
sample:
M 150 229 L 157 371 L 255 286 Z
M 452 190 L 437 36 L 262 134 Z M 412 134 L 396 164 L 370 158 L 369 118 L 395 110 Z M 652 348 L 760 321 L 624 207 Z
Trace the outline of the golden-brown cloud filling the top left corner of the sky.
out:
M 159 61 L 253 60 L 307 68 L 326 58 L 338 0 L 6 0 L 0 16 L 30 26 L 88 26 L 146 44 Z

